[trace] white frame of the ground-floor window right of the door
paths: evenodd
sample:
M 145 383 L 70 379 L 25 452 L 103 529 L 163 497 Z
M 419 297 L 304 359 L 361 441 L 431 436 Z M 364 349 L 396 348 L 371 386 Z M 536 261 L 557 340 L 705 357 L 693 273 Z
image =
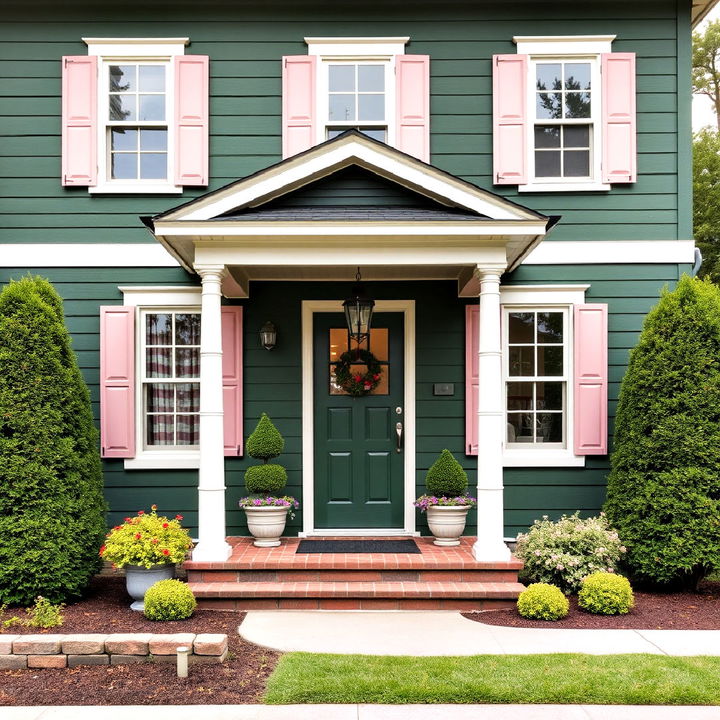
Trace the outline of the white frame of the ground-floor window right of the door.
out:
M 574 332 L 573 306 L 585 302 L 589 285 L 509 285 L 500 288 L 502 310 L 503 417 L 507 427 L 507 382 L 523 382 L 522 377 L 509 377 L 508 314 L 511 312 L 558 311 L 566 313 L 566 337 L 563 352 L 565 386 L 564 447 L 557 444 L 534 443 L 526 447 L 509 446 L 503 436 L 504 467 L 584 467 L 585 456 L 575 455 L 574 448 Z

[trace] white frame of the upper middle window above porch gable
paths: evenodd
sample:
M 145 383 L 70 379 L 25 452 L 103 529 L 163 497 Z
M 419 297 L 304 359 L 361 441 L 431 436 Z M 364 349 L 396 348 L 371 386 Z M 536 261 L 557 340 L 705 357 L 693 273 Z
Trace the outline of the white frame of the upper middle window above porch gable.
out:
M 348 128 L 386 127 L 386 144 L 395 147 L 396 129 L 396 97 L 395 90 L 395 57 L 405 54 L 405 45 L 409 37 L 395 38 L 310 38 L 306 37 L 308 55 L 317 57 L 317 93 L 315 98 L 316 117 L 318 118 L 315 142 L 320 144 L 327 140 L 329 128 L 346 125 Z M 329 118 L 328 75 L 330 65 L 371 64 L 385 66 L 385 123 L 379 121 L 358 121 L 339 123 Z

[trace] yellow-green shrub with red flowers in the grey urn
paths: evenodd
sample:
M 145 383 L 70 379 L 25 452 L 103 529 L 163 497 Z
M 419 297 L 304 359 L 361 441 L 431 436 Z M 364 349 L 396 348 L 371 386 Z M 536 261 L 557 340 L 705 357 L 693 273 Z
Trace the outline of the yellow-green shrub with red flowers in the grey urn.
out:
M 115 567 L 181 563 L 187 551 L 192 548 L 188 531 L 181 525 L 182 515 L 168 520 L 157 514 L 153 505 L 149 514 L 139 510 L 132 518 L 125 518 L 122 525 L 116 525 L 100 548 L 100 557 Z

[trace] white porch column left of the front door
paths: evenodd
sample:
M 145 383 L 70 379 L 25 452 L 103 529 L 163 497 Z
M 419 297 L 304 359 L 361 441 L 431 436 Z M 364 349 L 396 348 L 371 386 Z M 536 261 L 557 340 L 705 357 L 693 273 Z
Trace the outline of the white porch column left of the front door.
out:
M 193 560 L 223 562 L 231 547 L 225 539 L 225 454 L 223 450 L 222 317 L 223 265 L 196 265 L 202 279 L 200 332 L 200 471 L 198 544 Z

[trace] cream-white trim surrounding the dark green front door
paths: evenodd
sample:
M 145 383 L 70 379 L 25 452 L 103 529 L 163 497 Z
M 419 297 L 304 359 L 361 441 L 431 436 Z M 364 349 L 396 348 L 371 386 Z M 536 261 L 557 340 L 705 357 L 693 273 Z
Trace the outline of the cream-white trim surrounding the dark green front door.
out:
M 303 528 L 305 536 L 317 534 L 314 515 L 314 385 L 313 385 L 313 315 L 320 312 L 342 312 L 342 300 L 302 301 L 302 487 Z M 375 312 L 401 312 L 405 326 L 405 500 L 404 528 L 398 534 L 415 534 L 415 301 L 376 300 Z M 328 532 L 321 530 L 319 532 Z M 377 529 L 375 532 L 378 532 Z M 381 535 L 390 531 L 384 530 Z M 331 534 L 338 534 L 335 530 Z M 367 535 L 365 530 L 347 530 L 343 535 Z M 393 533 L 390 533 L 393 534 Z

